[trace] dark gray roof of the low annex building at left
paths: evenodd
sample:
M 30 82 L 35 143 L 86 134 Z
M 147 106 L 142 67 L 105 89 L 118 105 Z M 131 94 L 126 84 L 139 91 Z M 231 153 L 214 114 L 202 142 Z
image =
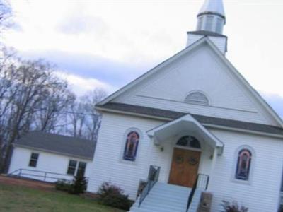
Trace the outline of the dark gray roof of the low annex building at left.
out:
M 95 141 L 49 134 L 42 131 L 32 131 L 18 139 L 14 145 L 87 160 L 93 160 L 96 148 Z

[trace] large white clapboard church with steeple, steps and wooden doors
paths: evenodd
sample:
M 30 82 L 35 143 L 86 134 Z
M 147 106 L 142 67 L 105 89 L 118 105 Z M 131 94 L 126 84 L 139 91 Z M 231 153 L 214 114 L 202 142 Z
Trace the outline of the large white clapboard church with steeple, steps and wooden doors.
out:
M 88 191 L 110 181 L 134 200 L 148 181 L 131 211 L 195 211 L 204 191 L 213 212 L 277 211 L 283 122 L 226 59 L 225 23 L 222 1 L 206 1 L 185 49 L 96 105 Z

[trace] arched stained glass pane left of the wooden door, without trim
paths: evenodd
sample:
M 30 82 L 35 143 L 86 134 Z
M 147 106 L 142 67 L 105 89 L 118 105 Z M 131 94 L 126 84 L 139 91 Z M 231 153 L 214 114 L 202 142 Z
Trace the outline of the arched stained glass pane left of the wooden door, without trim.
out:
M 129 134 L 127 134 L 123 159 L 130 161 L 136 160 L 138 146 L 139 146 L 139 134 L 136 131 L 129 132 Z

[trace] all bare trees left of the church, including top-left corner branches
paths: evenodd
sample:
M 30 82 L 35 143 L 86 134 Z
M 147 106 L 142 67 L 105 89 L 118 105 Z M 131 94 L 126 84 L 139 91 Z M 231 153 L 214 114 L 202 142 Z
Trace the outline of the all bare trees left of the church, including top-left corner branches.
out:
M 11 26 L 12 10 L 0 0 L 0 31 Z M 100 115 L 95 105 L 106 96 L 93 90 L 76 100 L 67 81 L 43 60 L 24 61 L 0 41 L 0 172 L 8 165 L 13 142 L 31 130 L 59 131 L 96 140 Z

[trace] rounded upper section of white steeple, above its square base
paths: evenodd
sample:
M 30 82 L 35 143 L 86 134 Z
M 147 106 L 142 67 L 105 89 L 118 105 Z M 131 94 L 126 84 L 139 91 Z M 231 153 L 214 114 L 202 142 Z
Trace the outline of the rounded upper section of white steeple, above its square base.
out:
M 222 0 L 206 0 L 197 14 L 197 30 L 222 34 L 225 12 Z

